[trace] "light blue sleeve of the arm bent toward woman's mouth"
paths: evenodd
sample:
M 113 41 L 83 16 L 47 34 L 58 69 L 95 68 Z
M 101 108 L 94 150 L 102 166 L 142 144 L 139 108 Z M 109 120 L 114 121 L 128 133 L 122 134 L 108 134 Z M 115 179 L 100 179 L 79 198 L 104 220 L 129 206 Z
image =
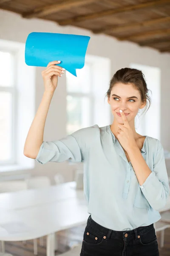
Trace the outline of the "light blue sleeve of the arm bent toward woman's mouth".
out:
M 165 206 L 170 193 L 170 187 L 164 159 L 164 149 L 159 140 L 153 171 L 145 182 L 140 185 L 140 188 L 153 209 L 160 210 Z

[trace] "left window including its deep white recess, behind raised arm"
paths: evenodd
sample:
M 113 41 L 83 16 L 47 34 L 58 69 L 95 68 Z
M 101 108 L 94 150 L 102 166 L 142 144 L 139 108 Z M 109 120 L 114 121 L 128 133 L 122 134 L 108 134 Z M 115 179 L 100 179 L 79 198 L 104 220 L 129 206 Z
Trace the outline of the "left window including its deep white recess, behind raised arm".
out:
M 35 67 L 25 44 L 0 39 L 0 172 L 34 168 L 23 148 L 35 115 Z

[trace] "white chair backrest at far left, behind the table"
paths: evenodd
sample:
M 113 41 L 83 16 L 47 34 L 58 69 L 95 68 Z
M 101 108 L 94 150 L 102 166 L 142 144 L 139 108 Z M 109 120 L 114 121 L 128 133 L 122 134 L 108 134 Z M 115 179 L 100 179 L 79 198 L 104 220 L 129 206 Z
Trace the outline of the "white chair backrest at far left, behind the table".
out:
M 25 180 L 10 180 L 0 182 L 0 193 L 15 192 L 26 189 L 27 183 Z

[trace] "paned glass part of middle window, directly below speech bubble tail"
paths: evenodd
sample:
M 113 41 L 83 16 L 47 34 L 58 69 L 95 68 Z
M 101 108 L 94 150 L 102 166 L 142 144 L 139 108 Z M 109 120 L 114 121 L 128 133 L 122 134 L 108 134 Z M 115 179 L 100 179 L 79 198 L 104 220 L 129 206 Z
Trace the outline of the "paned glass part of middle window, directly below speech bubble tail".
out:
M 91 86 L 91 64 L 77 70 L 77 77 L 66 71 L 67 84 L 67 134 L 91 125 L 90 114 L 94 97 Z

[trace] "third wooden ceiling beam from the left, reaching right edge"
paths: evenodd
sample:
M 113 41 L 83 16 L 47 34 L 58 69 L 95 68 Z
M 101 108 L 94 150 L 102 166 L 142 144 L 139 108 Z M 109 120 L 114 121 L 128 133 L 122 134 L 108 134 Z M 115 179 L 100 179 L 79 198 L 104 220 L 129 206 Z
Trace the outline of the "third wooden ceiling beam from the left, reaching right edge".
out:
M 96 29 L 93 30 L 93 32 L 95 34 L 98 33 L 109 33 L 109 32 L 122 32 L 122 31 L 128 31 L 130 29 L 140 29 L 141 27 L 145 27 L 145 26 L 151 26 L 151 25 L 155 25 L 155 24 L 159 24 L 159 23 L 166 23 L 166 22 L 170 22 L 170 16 L 167 17 L 162 17 L 162 18 L 157 18 L 157 19 L 153 19 L 153 20 L 145 20 L 143 22 L 140 23 L 129 23 L 127 25 L 123 25 L 123 26 L 109 26 L 106 27 L 104 29 Z

